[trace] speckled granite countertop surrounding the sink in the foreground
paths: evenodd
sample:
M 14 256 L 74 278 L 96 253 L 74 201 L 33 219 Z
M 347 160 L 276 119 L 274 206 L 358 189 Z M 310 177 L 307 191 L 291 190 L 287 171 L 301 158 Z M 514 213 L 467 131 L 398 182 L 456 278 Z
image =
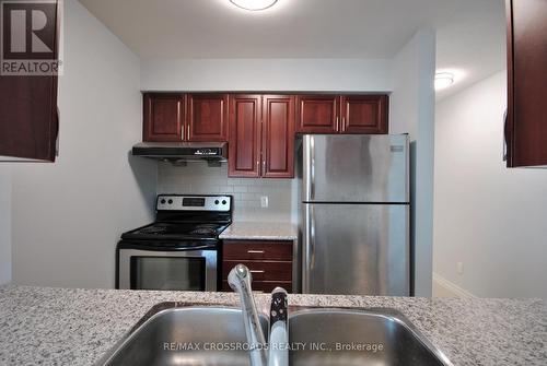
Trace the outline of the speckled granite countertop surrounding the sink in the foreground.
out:
M 269 295 L 257 295 L 257 305 Z M 238 304 L 236 294 L 0 287 L 0 365 L 93 365 L 154 304 Z M 547 303 L 291 295 L 306 306 L 398 309 L 454 365 L 547 365 Z

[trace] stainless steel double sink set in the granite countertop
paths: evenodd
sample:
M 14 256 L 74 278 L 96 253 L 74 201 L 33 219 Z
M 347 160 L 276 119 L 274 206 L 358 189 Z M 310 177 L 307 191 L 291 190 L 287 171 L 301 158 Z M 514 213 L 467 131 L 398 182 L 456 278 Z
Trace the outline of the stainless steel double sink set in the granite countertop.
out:
M 267 334 L 268 314 L 259 314 Z M 289 307 L 290 365 L 452 365 L 400 312 L 388 308 Z M 154 306 L 98 365 L 249 365 L 242 310 Z

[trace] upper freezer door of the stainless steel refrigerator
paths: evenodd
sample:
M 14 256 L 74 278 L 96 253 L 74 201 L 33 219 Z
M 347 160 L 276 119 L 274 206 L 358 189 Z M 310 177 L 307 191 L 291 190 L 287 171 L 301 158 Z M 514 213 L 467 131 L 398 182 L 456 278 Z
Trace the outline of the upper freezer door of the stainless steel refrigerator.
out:
M 408 202 L 408 135 L 306 134 L 304 202 Z

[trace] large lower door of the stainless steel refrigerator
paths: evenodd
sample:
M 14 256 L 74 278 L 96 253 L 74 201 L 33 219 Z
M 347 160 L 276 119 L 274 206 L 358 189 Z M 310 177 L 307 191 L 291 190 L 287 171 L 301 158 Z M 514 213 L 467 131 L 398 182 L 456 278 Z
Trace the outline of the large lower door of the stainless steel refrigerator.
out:
M 409 206 L 304 203 L 304 294 L 409 295 Z

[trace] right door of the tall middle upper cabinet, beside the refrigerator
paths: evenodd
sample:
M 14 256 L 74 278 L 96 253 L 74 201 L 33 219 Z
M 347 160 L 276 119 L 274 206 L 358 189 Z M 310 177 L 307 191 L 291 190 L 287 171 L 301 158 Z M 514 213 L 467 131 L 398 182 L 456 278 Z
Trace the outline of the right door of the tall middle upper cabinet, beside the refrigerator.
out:
M 294 96 L 263 96 L 263 177 L 294 177 Z

